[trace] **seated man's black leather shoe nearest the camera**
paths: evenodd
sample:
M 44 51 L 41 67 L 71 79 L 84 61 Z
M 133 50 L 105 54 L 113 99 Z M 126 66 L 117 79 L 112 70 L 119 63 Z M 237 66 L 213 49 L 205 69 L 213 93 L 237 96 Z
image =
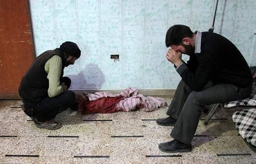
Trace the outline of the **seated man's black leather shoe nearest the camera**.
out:
M 162 152 L 167 153 L 190 152 L 192 149 L 191 144 L 182 143 L 176 139 L 170 142 L 160 143 L 158 147 Z

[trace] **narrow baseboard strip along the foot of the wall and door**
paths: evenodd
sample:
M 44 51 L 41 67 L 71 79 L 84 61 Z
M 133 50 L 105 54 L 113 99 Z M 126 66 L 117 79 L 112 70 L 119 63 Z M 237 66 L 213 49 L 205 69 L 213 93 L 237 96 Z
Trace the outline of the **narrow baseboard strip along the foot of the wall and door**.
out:
M 77 94 L 95 93 L 95 92 L 110 92 L 113 94 L 119 94 L 122 90 L 90 90 L 90 91 L 77 91 L 73 90 Z M 174 96 L 175 89 L 139 89 L 138 93 L 143 94 L 144 96 Z M 21 100 L 19 94 L 0 94 L 0 100 Z

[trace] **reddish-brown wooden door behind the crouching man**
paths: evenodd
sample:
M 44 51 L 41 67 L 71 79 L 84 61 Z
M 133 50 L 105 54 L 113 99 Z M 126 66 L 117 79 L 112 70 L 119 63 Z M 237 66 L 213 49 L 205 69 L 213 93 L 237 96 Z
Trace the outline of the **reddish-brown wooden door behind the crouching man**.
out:
M 0 2 L 0 99 L 19 99 L 21 78 L 34 60 L 28 0 Z

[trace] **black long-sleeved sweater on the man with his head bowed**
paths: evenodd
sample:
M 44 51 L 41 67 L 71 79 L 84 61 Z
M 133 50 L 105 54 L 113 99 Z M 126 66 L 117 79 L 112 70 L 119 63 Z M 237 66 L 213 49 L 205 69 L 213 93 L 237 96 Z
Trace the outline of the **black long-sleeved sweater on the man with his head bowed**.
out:
M 201 52 L 190 55 L 186 65 L 178 69 L 183 81 L 194 91 L 201 91 L 209 81 L 241 88 L 252 82 L 249 66 L 236 46 L 211 32 L 201 33 Z

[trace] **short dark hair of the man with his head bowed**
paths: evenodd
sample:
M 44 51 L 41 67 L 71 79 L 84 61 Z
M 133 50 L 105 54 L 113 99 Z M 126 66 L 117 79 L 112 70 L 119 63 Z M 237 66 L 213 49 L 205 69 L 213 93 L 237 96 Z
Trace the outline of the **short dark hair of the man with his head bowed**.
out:
M 182 45 L 182 39 L 185 37 L 192 37 L 193 32 L 185 25 L 173 25 L 168 29 L 165 37 L 166 47 L 171 45 Z

